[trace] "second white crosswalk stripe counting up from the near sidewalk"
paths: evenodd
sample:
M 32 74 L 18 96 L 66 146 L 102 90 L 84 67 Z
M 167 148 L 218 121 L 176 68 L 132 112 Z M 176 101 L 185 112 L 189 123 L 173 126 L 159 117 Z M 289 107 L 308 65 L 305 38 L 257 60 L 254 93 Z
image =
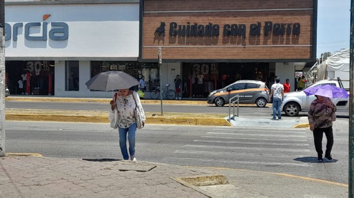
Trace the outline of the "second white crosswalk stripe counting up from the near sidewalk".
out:
M 208 154 L 208 155 L 223 155 L 231 154 L 238 156 L 247 156 L 247 157 L 280 157 L 280 158 L 298 158 L 303 157 L 303 155 L 282 155 L 282 154 L 258 154 L 258 153 L 240 153 L 240 152 L 217 152 L 217 151 L 206 151 L 206 150 L 176 150 L 175 153 L 181 154 Z

